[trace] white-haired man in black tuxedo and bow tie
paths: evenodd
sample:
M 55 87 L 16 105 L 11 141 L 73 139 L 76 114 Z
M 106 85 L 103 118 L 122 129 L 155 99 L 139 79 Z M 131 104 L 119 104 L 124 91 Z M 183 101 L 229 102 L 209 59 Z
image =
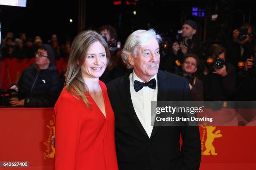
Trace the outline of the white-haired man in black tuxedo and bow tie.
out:
M 133 71 L 107 84 L 120 170 L 199 169 L 197 126 L 151 125 L 151 101 L 190 100 L 186 78 L 159 70 L 160 41 L 154 30 L 129 35 L 122 57 Z

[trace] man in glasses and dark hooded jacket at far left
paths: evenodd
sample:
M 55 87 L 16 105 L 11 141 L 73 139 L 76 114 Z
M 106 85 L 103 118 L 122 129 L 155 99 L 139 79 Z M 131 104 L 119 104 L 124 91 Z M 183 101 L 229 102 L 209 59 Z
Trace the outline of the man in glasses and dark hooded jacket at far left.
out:
M 55 66 L 54 52 L 50 45 L 42 45 L 35 52 L 35 64 L 27 67 L 16 85 L 16 97 L 10 99 L 12 106 L 53 107 L 61 91 L 61 82 Z

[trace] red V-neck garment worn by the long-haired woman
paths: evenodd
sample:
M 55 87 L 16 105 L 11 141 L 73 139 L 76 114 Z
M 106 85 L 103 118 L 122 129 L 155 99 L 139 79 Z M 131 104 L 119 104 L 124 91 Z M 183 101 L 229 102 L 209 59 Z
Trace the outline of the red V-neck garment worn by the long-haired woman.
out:
M 114 113 L 107 88 L 102 89 L 106 117 L 90 94 L 87 107 L 81 99 L 61 92 L 54 107 L 56 114 L 55 170 L 118 170 Z

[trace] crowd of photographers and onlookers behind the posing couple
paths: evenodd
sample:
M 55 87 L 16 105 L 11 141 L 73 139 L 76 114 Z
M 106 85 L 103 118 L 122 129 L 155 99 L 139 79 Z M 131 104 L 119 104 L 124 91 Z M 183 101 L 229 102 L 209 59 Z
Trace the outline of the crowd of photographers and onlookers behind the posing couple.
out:
M 197 23 L 194 21 L 185 21 L 181 30 L 173 40 L 163 35 L 160 70 L 187 77 L 194 100 L 256 99 L 256 48 L 252 25 L 246 23 L 233 30 L 230 39 L 222 35 L 220 29 L 216 37 L 210 37 L 206 43 L 198 40 Z M 100 80 L 108 83 L 124 75 L 129 68 L 121 58 L 122 46 L 115 28 L 104 25 L 98 32 L 108 42 L 111 53 L 108 67 L 100 77 Z M 226 37 L 225 40 L 223 37 Z M 1 43 L 1 60 L 33 58 L 43 44 L 51 46 L 55 60 L 69 57 L 72 42 L 60 45 L 56 34 L 51 35 L 47 42 L 42 42 L 39 36 L 31 39 L 25 33 L 20 33 L 16 38 L 12 32 L 8 32 Z M 64 85 L 65 72 L 59 74 Z

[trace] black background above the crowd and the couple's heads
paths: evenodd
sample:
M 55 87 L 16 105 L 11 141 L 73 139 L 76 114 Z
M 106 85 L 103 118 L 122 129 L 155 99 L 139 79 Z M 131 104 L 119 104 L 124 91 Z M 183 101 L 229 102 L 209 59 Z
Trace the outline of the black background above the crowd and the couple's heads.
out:
M 195 20 L 200 27 L 200 39 L 203 41 L 205 21 L 207 21 L 207 36 L 220 23 L 227 23 L 230 36 L 232 30 L 239 28 L 249 21 L 256 25 L 256 2 L 254 0 L 120 0 L 121 5 L 114 5 L 117 0 L 87 0 L 85 8 L 86 29 L 97 30 L 100 25 L 113 25 L 118 31 L 118 39 L 122 42 L 126 37 L 137 29 L 154 28 L 160 33 L 168 32 L 175 34 L 186 19 Z M 136 3 L 136 5 L 132 5 Z M 78 33 L 78 4 L 79 0 L 27 0 L 26 7 L 13 7 L 0 5 L 1 32 L 4 38 L 11 31 L 15 37 L 20 32 L 26 33 L 27 37 L 41 36 L 43 42 L 50 39 L 55 33 L 58 40 L 72 40 Z M 192 7 L 198 7 L 210 14 L 218 13 L 217 21 L 211 21 L 209 17 L 192 16 Z M 133 15 L 136 11 L 136 15 Z M 206 13 L 205 13 L 206 14 Z M 182 20 L 183 16 L 183 20 Z M 210 16 L 210 15 L 209 15 Z M 73 20 L 73 23 L 69 22 Z

